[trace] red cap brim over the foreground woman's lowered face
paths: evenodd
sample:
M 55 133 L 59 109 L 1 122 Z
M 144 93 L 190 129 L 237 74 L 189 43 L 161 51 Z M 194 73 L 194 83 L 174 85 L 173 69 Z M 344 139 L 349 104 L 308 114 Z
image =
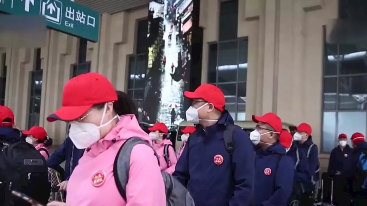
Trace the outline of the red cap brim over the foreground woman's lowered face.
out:
M 86 106 L 69 106 L 69 107 L 60 107 L 53 114 L 47 117 L 47 121 L 54 122 L 56 120 L 61 120 L 65 122 L 73 121 L 77 118 L 83 116 L 83 114 L 87 113 L 93 105 Z

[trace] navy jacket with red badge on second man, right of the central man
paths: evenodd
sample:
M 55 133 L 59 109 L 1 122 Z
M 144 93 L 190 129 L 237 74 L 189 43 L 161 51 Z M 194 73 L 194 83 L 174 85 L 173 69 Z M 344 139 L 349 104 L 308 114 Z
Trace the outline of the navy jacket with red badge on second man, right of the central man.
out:
M 257 148 L 254 191 L 256 206 L 287 205 L 293 191 L 294 164 L 293 159 L 286 155 L 286 148 L 278 142 L 267 150 Z

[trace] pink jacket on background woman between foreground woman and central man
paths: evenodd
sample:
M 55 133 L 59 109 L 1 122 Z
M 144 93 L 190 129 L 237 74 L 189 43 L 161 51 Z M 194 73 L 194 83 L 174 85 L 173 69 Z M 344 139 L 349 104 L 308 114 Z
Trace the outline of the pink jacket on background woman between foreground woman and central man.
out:
M 156 150 L 158 154 L 161 171 L 167 172 L 168 174 L 172 174 L 173 172 L 175 172 L 177 157 L 173 147 L 168 147 L 168 155 L 170 157 L 170 161 L 168 161 L 167 165 L 167 162 L 164 159 L 164 151 L 163 151 L 165 144 L 172 145 L 172 142 L 169 139 L 164 139 L 160 144 L 156 144 L 153 141 L 153 148 Z

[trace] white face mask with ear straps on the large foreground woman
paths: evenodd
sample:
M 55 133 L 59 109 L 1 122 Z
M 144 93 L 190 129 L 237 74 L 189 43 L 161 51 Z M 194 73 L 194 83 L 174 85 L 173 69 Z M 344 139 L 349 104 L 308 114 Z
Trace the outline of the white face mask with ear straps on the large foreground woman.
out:
M 99 126 L 88 122 L 70 122 L 69 137 L 73 141 L 76 148 L 85 149 L 96 143 L 99 139 L 101 139 L 100 128 L 109 125 L 114 119 L 119 118 L 119 116 L 116 115 L 115 117 L 110 119 L 110 121 L 102 125 L 103 119 L 105 118 L 106 110 L 107 103 L 105 104 L 101 123 L 99 124 Z

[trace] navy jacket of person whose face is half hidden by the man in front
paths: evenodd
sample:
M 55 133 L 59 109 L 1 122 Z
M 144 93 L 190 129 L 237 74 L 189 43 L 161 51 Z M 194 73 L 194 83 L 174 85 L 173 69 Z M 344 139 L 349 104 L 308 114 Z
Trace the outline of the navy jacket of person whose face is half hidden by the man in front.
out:
M 287 156 L 291 157 L 293 161 L 297 162 L 297 144 L 292 144 L 290 150 L 287 152 Z M 308 166 L 308 159 L 303 150 L 298 149 L 299 162 L 295 168 L 294 181 L 307 187 L 311 182 L 311 176 Z

